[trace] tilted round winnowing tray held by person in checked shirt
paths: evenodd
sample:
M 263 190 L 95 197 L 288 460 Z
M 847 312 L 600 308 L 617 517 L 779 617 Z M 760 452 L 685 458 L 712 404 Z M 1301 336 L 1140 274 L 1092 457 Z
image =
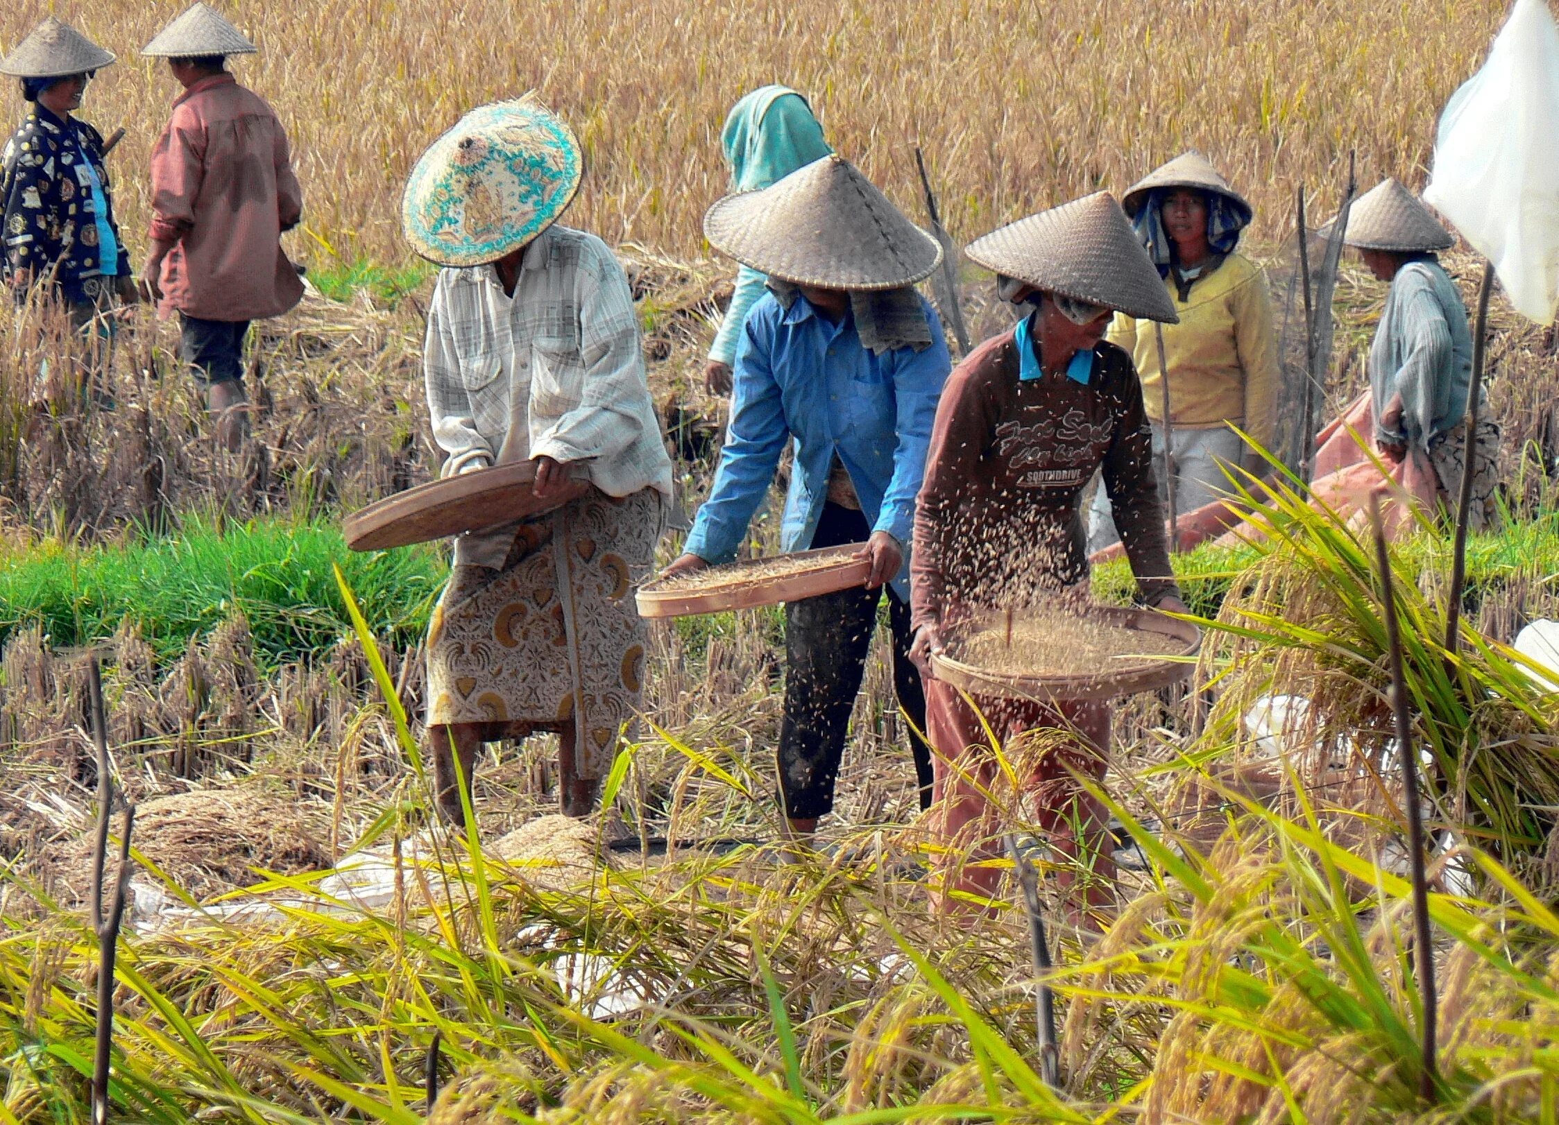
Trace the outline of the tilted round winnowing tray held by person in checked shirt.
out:
M 532 491 L 535 461 L 432 480 L 352 513 L 341 522 L 341 534 L 352 550 L 384 550 L 543 516 L 577 500 L 589 488 L 582 466 L 566 467 L 567 481 L 544 500 Z

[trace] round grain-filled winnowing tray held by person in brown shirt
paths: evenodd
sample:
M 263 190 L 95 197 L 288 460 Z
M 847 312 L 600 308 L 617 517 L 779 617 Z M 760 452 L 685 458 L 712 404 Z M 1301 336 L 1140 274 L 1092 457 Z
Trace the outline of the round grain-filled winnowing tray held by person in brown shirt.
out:
M 990 609 L 943 626 L 931 668 L 973 695 L 1113 700 L 1186 679 L 1200 645 L 1200 630 L 1155 609 Z

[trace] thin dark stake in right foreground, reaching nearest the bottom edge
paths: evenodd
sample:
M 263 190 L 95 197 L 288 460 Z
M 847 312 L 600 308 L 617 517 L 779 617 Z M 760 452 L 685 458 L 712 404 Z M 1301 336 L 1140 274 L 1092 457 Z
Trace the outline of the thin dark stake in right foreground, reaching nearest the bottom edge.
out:
M 1408 849 L 1412 865 L 1412 950 L 1419 975 L 1419 1003 L 1423 1010 L 1423 1056 L 1419 1095 L 1434 1102 L 1436 1086 L 1436 999 L 1434 947 L 1430 944 L 1430 883 L 1423 871 L 1423 815 L 1419 807 L 1419 748 L 1412 745 L 1408 720 L 1408 678 L 1402 670 L 1402 636 L 1397 628 L 1397 595 L 1392 587 L 1391 553 L 1380 522 L 1380 494 L 1370 492 L 1369 519 L 1375 531 L 1375 564 L 1380 567 L 1380 598 L 1386 614 L 1386 645 L 1391 651 L 1391 703 L 1397 718 L 1397 751 L 1402 754 L 1403 804 L 1408 807 Z

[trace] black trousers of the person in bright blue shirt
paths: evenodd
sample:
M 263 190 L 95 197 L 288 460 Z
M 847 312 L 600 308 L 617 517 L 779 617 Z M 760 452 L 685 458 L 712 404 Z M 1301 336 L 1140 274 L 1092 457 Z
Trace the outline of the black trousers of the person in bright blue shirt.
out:
M 812 547 L 862 542 L 871 533 L 865 516 L 842 505 L 823 506 Z M 920 784 L 920 807 L 931 804 L 931 748 L 926 729 L 926 690 L 910 664 L 909 605 L 890 587 L 850 589 L 786 605 L 784 720 L 780 725 L 780 795 L 786 816 L 811 820 L 834 807 L 834 781 L 845 756 L 845 734 L 867 651 L 876 631 L 878 603 L 887 594 L 893 634 L 893 689 L 914 725 L 910 753 Z

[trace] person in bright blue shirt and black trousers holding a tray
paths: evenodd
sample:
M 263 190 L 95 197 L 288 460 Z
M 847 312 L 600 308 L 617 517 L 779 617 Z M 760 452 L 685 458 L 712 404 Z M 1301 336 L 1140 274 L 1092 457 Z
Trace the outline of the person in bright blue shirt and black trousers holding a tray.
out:
M 705 218 L 720 251 L 769 277 L 736 352 L 731 419 L 709 499 L 667 575 L 730 562 L 787 441 L 781 550 L 861 542 L 867 586 L 786 606 L 780 790 L 790 834 L 833 810 L 850 712 L 887 587 L 893 682 L 931 798 L 926 701 L 909 659 L 909 542 L 931 425 L 951 369 L 914 284 L 942 251 L 848 160 L 825 156 Z

